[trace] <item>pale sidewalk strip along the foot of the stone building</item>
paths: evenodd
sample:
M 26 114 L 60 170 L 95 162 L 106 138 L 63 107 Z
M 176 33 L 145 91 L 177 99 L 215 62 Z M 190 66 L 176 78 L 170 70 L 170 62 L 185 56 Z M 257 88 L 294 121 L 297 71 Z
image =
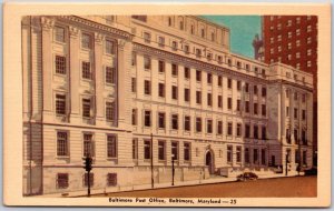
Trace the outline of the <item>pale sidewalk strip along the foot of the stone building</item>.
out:
M 277 173 L 277 174 L 269 174 L 269 175 L 261 175 L 258 179 L 275 179 L 275 178 L 286 178 L 286 177 L 296 177 L 296 173 Z M 302 174 L 301 174 L 302 175 Z M 170 182 L 167 183 L 155 183 L 154 189 L 166 189 L 166 188 L 176 188 L 176 187 L 189 187 L 189 185 L 202 185 L 202 184 L 214 184 L 214 183 L 223 183 L 223 182 L 236 182 L 237 179 L 234 178 L 224 178 L 224 177 L 213 177 L 205 180 L 191 180 L 191 181 L 176 181 L 174 187 L 171 187 Z M 140 185 L 129 185 L 129 187 L 116 187 L 111 189 L 91 189 L 91 194 L 107 194 L 112 192 L 128 192 L 128 191 L 139 191 L 139 190 L 149 190 L 151 189 L 151 184 L 140 184 Z M 66 195 L 61 195 L 61 193 L 53 193 L 53 194 L 43 194 L 43 195 L 36 195 L 39 198 L 60 198 L 60 197 L 87 197 L 87 190 L 85 191 L 76 191 L 69 192 Z

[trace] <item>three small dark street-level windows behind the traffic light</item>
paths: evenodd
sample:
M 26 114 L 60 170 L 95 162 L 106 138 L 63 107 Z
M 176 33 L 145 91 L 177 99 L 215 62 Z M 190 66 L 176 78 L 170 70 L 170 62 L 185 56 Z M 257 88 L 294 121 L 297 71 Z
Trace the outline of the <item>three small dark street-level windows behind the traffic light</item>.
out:
M 94 173 L 85 173 L 82 175 L 84 187 L 88 187 L 88 180 L 90 187 L 94 187 Z M 117 173 L 107 173 L 107 187 L 117 185 Z M 67 189 L 69 187 L 69 173 L 57 173 L 56 178 L 56 188 L 57 189 Z

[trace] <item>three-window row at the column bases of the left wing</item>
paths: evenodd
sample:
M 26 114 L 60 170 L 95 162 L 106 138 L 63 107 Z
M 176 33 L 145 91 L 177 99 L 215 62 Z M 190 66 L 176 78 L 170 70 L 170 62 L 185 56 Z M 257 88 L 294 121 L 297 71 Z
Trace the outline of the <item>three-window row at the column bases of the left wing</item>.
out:
M 66 94 L 57 93 L 56 94 L 56 114 L 57 115 L 66 115 L 67 114 L 67 99 Z M 84 98 L 81 101 L 82 109 L 81 114 L 82 118 L 92 118 L 92 99 L 91 98 Z M 107 121 L 114 121 L 116 117 L 116 104 L 115 101 L 107 101 L 105 104 L 105 117 Z

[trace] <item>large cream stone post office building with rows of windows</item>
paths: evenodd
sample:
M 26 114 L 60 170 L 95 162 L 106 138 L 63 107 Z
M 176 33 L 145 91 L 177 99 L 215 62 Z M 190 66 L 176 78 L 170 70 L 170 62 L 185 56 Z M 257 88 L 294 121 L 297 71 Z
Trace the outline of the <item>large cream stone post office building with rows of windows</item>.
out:
M 203 18 L 24 17 L 22 74 L 23 194 L 312 167 L 312 74 Z

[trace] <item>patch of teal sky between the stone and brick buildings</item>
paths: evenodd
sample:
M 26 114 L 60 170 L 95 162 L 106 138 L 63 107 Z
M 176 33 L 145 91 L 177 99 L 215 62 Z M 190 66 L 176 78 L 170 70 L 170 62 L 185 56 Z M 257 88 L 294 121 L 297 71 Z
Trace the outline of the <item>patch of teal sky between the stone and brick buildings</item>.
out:
M 212 22 L 223 24 L 230 31 L 230 50 L 235 53 L 254 58 L 253 39 L 261 36 L 259 16 L 203 16 Z

